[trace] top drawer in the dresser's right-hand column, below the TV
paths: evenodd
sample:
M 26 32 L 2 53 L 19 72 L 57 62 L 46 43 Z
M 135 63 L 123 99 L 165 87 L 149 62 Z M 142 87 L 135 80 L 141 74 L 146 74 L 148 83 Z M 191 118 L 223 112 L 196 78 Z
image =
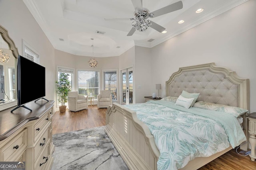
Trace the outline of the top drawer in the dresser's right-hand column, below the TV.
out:
M 50 125 L 50 120 L 48 119 L 48 114 L 44 115 L 35 125 L 34 125 L 34 142 L 38 140 L 42 131 L 44 131 L 48 125 Z

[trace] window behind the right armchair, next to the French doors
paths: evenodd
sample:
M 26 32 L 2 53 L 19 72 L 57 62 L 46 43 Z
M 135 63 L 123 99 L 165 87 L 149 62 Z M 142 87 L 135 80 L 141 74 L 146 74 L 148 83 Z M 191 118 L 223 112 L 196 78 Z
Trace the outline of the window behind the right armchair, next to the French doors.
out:
M 104 90 L 112 90 L 112 101 L 117 101 L 117 75 L 116 71 L 104 71 Z

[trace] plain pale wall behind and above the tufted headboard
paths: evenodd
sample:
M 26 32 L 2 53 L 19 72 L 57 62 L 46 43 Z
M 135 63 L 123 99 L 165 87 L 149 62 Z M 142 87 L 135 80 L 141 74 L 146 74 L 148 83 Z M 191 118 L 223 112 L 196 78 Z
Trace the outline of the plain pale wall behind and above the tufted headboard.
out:
M 256 111 L 255 9 L 256 0 L 249 0 L 151 48 L 152 89 L 155 82 L 163 87 L 179 67 L 214 62 L 250 79 L 250 112 Z

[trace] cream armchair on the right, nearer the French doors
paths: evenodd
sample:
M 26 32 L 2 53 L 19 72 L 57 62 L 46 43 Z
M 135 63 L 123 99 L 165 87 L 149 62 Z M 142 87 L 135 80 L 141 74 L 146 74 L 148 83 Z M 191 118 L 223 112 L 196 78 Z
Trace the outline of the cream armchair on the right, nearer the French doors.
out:
M 97 107 L 106 108 L 112 105 L 112 90 L 100 90 L 100 94 L 97 95 Z

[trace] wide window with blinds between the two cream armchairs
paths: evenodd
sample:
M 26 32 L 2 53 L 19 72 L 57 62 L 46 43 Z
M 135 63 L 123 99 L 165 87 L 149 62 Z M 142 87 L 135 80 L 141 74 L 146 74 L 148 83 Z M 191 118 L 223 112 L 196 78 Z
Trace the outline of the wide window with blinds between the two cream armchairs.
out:
M 78 94 L 94 97 L 99 94 L 99 71 L 78 70 Z

